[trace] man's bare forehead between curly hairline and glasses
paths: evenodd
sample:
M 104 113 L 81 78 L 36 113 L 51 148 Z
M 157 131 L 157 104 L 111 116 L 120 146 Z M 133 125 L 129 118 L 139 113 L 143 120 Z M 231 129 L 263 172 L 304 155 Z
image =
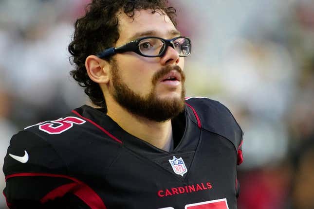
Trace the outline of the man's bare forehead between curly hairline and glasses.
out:
M 160 10 L 135 10 L 134 17 L 128 17 L 125 13 L 118 15 L 119 39 L 117 44 L 124 43 L 141 36 L 158 36 L 171 38 L 179 35 L 179 32 L 170 18 Z

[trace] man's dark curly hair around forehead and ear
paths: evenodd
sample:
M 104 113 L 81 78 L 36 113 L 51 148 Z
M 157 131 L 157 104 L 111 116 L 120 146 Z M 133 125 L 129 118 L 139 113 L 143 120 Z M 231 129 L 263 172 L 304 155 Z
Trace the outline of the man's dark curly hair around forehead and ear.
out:
M 162 10 L 176 26 L 176 10 L 168 6 L 168 0 L 92 0 L 86 6 L 86 14 L 74 24 L 74 37 L 68 47 L 71 53 L 70 62 L 75 69 L 70 72 L 93 104 L 106 107 L 106 101 L 99 84 L 93 82 L 87 74 L 85 60 L 89 55 L 97 54 L 113 47 L 119 39 L 118 17 L 121 11 L 129 17 L 135 10 Z M 112 57 L 105 58 L 111 62 Z

